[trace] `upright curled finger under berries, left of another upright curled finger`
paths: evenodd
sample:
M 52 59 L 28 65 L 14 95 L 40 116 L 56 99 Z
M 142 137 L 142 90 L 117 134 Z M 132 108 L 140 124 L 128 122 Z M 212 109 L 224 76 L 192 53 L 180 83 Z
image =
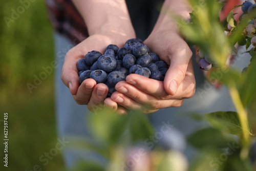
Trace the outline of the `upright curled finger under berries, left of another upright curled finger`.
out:
M 88 104 L 93 88 L 96 86 L 96 81 L 94 79 L 86 79 L 79 86 L 76 95 L 74 95 L 74 99 L 78 104 Z

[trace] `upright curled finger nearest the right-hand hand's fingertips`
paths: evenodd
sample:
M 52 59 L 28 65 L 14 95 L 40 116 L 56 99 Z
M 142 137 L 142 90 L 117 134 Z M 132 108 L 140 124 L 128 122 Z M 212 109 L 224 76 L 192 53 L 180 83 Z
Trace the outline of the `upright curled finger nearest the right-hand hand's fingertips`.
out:
M 88 102 L 88 109 L 91 112 L 95 112 L 98 109 L 103 108 L 103 102 L 108 95 L 109 88 L 103 83 L 97 84 L 92 92 L 92 96 Z

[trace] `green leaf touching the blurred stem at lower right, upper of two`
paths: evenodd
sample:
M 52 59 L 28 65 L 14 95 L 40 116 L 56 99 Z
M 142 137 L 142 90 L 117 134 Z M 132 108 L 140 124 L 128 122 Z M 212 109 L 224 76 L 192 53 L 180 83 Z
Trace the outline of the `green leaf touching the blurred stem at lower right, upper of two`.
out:
M 243 129 L 237 112 L 214 112 L 205 114 L 209 122 L 216 128 L 225 133 L 241 136 Z M 250 125 L 249 125 L 250 127 Z M 246 130 L 248 134 L 252 135 L 250 130 Z

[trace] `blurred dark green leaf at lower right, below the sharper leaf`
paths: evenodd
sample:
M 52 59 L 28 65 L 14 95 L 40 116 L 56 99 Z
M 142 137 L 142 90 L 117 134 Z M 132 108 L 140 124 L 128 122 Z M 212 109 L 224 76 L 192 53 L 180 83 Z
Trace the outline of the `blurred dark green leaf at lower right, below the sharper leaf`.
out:
M 187 138 L 187 141 L 197 148 L 224 148 L 227 143 L 233 142 L 233 139 L 219 130 L 209 127 L 193 133 Z

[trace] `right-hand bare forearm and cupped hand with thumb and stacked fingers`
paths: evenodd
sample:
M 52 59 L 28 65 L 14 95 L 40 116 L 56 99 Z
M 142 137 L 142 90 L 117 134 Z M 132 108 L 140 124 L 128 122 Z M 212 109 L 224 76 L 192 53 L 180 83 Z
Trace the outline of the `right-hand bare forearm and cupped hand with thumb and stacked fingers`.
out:
M 116 84 L 117 92 L 105 99 L 106 105 L 117 109 L 118 104 L 125 109 L 152 113 L 162 108 L 179 107 L 185 98 L 195 94 L 192 52 L 180 36 L 173 19 L 178 15 L 186 20 L 189 12 L 186 1 L 165 1 L 152 33 L 144 41 L 153 53 L 169 65 L 164 81 L 131 74 L 126 81 Z

